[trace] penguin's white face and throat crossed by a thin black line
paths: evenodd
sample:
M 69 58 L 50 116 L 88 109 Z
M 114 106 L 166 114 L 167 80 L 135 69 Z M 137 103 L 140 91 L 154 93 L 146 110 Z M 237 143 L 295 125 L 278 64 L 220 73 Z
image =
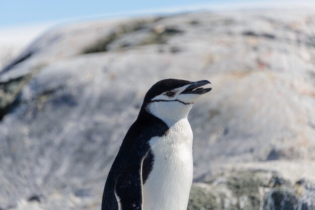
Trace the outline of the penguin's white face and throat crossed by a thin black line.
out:
M 190 84 L 168 90 L 155 96 L 146 106 L 146 111 L 163 120 L 168 126 L 187 118 L 193 103 L 202 94 L 181 94 Z

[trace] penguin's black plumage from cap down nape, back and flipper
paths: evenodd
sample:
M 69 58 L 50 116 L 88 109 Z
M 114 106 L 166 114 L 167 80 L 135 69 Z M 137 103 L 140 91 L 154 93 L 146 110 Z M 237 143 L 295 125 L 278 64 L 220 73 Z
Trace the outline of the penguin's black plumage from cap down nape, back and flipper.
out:
M 191 83 L 186 80 L 164 79 L 155 83 L 147 91 L 138 118 L 123 139 L 108 174 L 103 193 L 102 210 L 118 209 L 115 192 L 120 198 L 123 210 L 141 210 L 142 184 L 148 178 L 154 162 L 149 140 L 152 137 L 162 137 L 169 130 L 166 123 L 147 113 L 145 107 L 156 95 Z

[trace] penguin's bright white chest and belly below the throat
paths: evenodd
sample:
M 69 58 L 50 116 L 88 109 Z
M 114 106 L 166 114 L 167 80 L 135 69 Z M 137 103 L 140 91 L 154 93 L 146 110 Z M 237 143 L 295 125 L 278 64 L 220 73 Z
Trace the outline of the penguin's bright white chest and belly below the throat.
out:
M 143 185 L 143 210 L 186 210 L 193 178 L 193 134 L 187 119 L 177 122 L 164 137 L 149 143 L 152 171 Z

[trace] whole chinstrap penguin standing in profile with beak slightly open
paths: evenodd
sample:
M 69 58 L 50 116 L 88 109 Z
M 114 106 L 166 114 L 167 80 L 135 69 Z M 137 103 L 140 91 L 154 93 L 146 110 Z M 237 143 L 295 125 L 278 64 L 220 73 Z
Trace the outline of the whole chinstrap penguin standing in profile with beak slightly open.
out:
M 187 209 L 193 180 L 187 116 L 209 83 L 164 79 L 147 91 L 107 176 L 102 210 Z

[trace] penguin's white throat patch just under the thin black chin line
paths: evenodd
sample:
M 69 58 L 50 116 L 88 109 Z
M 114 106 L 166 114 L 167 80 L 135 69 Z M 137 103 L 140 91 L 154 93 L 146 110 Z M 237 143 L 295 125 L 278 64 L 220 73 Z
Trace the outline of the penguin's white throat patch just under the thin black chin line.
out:
M 161 106 L 161 103 L 164 104 Z M 147 104 L 141 111 L 159 118 L 171 128 L 177 122 L 187 120 L 192 106 L 193 104 L 182 104 L 180 102 L 153 102 Z

